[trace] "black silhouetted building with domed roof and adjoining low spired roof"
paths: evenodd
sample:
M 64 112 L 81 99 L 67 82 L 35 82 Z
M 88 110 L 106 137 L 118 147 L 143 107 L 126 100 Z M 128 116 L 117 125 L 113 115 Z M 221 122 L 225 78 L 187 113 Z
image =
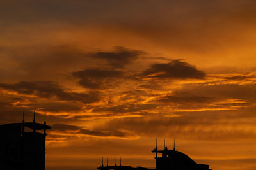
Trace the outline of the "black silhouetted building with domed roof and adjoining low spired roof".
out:
M 156 168 L 149 169 L 145 167 L 132 167 L 132 166 L 122 166 L 121 160 L 120 165 L 117 166 L 108 166 L 108 159 L 107 159 L 107 166 L 103 165 L 102 159 L 102 166 L 98 167 L 100 170 L 129 170 L 129 169 L 137 169 L 137 170 L 212 170 L 209 169 L 209 165 L 206 164 L 197 164 L 193 159 L 191 159 L 188 155 L 175 150 L 175 142 L 173 150 L 168 150 L 167 148 L 166 139 L 164 140 L 164 149 L 158 150 L 157 143 L 156 148 L 152 150 L 152 153 L 156 153 Z M 158 153 L 161 153 L 161 157 L 158 156 Z

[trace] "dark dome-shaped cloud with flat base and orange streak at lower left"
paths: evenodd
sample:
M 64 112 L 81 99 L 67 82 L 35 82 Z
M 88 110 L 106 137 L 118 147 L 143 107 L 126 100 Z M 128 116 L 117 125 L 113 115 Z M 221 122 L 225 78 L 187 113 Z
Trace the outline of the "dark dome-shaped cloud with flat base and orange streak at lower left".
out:
M 205 77 L 205 73 L 196 69 L 195 66 L 182 62 L 180 60 L 172 60 L 166 64 L 153 64 L 149 69 L 142 73 L 143 76 L 149 78 L 198 78 Z

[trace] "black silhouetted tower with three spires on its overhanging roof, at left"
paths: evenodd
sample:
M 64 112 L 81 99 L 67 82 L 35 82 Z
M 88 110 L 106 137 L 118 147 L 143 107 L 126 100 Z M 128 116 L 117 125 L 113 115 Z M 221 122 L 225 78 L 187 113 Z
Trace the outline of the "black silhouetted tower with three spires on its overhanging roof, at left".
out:
M 50 126 L 23 121 L 0 125 L 0 167 L 5 170 L 45 170 L 45 137 Z

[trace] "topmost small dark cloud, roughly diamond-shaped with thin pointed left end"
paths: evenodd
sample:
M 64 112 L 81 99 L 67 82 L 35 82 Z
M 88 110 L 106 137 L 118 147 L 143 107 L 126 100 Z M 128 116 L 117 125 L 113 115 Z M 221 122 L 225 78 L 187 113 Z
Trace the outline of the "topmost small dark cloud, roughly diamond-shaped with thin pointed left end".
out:
M 124 46 L 116 46 L 113 51 L 110 52 L 95 52 L 89 53 L 91 57 L 106 60 L 112 67 L 122 68 L 125 65 L 136 60 L 139 55 L 145 52 L 139 50 L 130 50 Z

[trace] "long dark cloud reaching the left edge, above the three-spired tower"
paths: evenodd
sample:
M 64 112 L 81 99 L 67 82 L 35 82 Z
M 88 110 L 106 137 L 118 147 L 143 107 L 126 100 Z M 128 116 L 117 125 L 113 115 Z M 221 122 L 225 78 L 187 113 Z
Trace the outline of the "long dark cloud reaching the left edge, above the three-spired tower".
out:
M 99 101 L 98 92 L 76 93 L 66 92 L 60 85 L 52 81 L 20 81 L 15 84 L 0 83 L 0 87 L 13 90 L 19 94 L 35 95 L 38 97 L 58 97 L 63 101 L 79 101 L 82 103 L 94 103 Z

